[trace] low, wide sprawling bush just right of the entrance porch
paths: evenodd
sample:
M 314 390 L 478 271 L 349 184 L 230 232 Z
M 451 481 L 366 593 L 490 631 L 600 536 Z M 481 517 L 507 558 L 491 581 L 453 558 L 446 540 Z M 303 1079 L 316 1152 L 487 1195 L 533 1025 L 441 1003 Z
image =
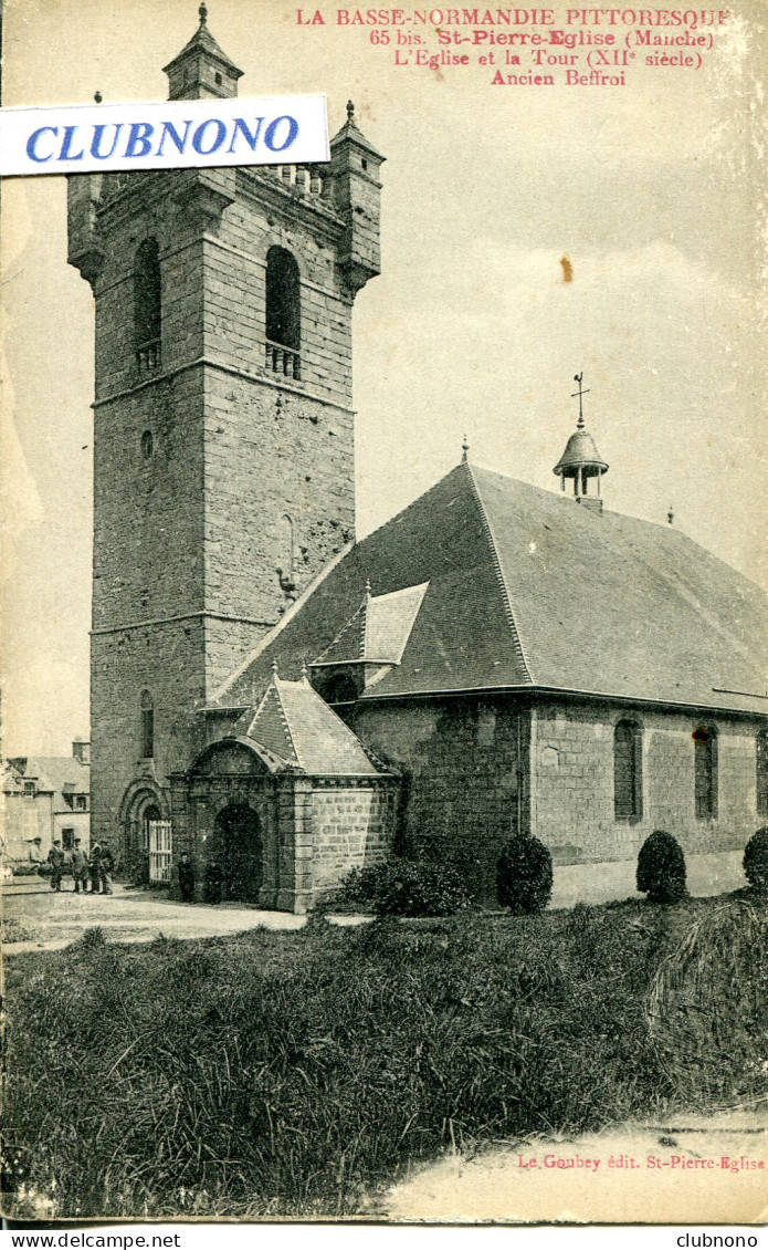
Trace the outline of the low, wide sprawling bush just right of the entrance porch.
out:
M 353 868 L 341 899 L 380 916 L 451 916 L 470 904 L 463 878 L 451 864 L 392 858 Z

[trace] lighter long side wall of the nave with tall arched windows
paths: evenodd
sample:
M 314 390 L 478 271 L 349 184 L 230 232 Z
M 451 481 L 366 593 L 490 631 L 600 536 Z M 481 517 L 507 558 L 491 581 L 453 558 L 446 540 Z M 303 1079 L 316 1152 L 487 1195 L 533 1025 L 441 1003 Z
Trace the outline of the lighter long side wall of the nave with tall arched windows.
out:
M 628 718 L 642 734 L 642 816 L 617 818 L 613 729 Z M 718 730 L 717 816 L 696 816 L 693 731 Z M 756 811 L 758 722 L 673 711 L 627 711 L 608 704 L 547 702 L 532 725 L 532 824 L 556 862 L 634 859 L 654 829 L 688 852 L 743 848 Z

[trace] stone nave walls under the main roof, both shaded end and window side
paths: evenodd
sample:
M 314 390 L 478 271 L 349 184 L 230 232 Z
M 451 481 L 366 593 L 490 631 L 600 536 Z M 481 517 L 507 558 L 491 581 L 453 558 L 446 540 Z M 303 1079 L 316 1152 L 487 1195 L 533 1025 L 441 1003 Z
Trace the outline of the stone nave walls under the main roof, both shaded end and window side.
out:
M 613 729 L 626 716 L 642 729 L 639 819 L 614 815 Z M 727 852 L 764 822 L 756 811 L 757 721 L 564 700 L 527 710 L 513 699 L 360 705 L 348 719 L 403 770 L 405 845 L 463 865 L 487 899 L 498 850 L 518 829 L 541 838 L 557 865 L 634 860 L 659 828 L 689 854 Z M 702 724 L 718 730 L 712 819 L 694 811 L 692 735 Z

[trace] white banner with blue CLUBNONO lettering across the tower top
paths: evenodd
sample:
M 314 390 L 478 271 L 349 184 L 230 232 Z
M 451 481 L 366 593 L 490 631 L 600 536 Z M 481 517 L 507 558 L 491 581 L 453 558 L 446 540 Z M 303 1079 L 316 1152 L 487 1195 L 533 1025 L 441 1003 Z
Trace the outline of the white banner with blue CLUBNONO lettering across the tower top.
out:
M 0 109 L 0 175 L 327 161 L 323 95 Z

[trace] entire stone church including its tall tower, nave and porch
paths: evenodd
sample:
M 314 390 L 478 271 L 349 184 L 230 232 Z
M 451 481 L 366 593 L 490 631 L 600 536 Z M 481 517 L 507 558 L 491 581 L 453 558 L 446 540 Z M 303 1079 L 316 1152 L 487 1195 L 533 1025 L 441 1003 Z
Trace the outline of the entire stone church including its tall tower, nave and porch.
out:
M 170 99 L 230 98 L 207 26 Z M 603 508 L 579 415 L 539 490 L 461 462 L 355 538 L 351 318 L 383 158 L 69 180 L 96 304 L 92 829 L 303 911 L 392 848 L 492 898 L 501 846 L 632 861 L 768 815 L 766 595 Z M 581 381 L 579 381 L 581 391 Z M 571 486 L 571 490 L 566 488 Z

